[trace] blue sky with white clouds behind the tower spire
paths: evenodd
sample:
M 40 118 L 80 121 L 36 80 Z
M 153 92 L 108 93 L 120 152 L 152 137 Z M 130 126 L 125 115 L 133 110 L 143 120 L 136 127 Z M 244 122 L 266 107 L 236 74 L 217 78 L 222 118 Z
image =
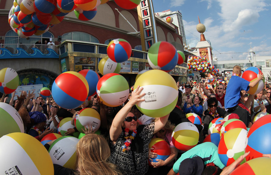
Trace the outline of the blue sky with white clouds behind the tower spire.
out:
M 182 13 L 186 42 L 200 41 L 198 16 L 206 27 L 218 61 L 247 59 L 250 47 L 257 56 L 271 57 L 271 0 L 152 0 L 154 12 Z M 265 52 L 268 51 L 268 52 Z

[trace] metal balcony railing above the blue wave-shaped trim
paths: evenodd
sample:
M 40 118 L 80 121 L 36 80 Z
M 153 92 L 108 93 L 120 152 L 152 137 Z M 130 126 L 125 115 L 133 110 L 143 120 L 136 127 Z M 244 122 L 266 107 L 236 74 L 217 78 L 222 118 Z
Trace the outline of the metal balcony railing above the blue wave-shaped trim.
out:
M 57 46 L 58 45 L 47 45 L 47 44 L 0 44 L 0 48 L 5 48 L 9 50 L 12 54 L 18 53 L 18 50 L 16 49 L 17 47 L 22 48 L 28 54 L 34 53 L 34 50 L 32 48 L 39 49 L 43 54 L 48 54 L 49 51 L 47 50 L 47 48 L 50 48 L 58 54 L 59 51 Z M 2 50 L 0 50 L 0 54 L 2 54 Z

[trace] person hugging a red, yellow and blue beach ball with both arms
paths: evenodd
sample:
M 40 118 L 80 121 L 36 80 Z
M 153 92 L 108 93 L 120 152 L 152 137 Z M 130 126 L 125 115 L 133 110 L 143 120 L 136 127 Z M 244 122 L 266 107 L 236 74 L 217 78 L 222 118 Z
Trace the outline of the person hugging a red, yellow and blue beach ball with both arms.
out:
M 156 121 L 154 119 L 154 121 Z M 160 129 L 157 133 L 154 134 L 153 138 L 161 138 L 164 139 L 170 147 L 170 155 L 167 159 L 156 159 L 157 162 L 153 162 L 154 158 L 157 158 L 157 153 L 151 152 L 149 149 L 149 160 L 151 161 L 151 165 L 153 167 L 149 167 L 148 175 L 164 175 L 167 174 L 170 169 L 173 167 L 173 160 L 176 159 L 178 155 L 178 149 L 173 145 L 171 135 L 175 128 L 175 125 L 171 124 L 169 121 L 166 122 L 166 125 Z

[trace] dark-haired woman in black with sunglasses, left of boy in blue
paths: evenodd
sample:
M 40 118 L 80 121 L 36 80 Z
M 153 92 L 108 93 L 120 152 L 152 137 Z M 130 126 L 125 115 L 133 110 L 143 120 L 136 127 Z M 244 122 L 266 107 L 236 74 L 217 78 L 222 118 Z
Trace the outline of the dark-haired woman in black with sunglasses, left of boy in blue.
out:
M 204 118 L 203 118 L 203 135 L 204 137 L 208 136 L 208 126 L 210 122 L 218 117 L 224 118 L 229 113 L 227 113 L 225 110 L 223 110 L 221 107 L 217 106 L 218 101 L 215 97 L 207 99 L 208 109 L 204 112 Z

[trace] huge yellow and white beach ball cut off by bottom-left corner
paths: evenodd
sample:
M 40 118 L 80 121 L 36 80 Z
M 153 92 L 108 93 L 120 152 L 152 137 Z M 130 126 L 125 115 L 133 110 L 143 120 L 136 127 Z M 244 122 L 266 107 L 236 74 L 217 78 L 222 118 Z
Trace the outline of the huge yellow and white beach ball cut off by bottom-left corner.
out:
M 48 151 L 39 140 L 29 134 L 15 132 L 1 137 L 0 155 L 1 174 L 54 175 Z

